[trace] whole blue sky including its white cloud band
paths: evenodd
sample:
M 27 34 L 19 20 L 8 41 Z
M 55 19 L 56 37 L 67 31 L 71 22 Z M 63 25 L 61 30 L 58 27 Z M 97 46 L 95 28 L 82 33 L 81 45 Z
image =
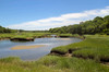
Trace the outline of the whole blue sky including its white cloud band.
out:
M 45 31 L 109 15 L 109 0 L 0 0 L 0 25 Z

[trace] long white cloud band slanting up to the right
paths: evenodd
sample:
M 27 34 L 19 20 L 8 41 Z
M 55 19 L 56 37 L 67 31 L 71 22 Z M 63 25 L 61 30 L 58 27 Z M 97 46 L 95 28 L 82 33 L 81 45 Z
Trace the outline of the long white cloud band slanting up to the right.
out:
M 105 16 L 105 15 L 109 15 L 109 7 L 106 7 L 105 9 L 88 10 L 80 13 L 62 14 L 57 17 L 48 17 L 32 22 L 24 22 L 21 24 L 10 25 L 8 27 L 13 29 L 27 29 L 27 31 L 49 29 L 52 27 L 77 24 L 82 21 L 92 20 L 95 16 Z

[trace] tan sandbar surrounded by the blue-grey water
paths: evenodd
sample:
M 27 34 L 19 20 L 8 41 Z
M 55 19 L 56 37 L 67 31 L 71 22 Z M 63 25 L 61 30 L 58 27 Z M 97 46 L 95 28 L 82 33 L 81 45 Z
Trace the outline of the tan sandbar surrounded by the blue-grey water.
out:
M 46 45 L 32 45 L 32 46 L 15 46 L 12 47 L 12 50 L 16 50 L 16 49 L 33 49 L 33 48 L 39 48 L 39 47 L 44 47 Z

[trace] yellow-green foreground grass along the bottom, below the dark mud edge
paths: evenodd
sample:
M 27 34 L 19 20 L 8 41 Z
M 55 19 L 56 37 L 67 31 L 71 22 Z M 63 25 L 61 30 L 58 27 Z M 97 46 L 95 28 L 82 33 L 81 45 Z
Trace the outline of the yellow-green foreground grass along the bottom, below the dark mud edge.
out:
M 22 61 L 19 58 L 0 59 L 1 72 L 109 72 L 107 65 L 94 60 L 46 56 L 38 61 Z

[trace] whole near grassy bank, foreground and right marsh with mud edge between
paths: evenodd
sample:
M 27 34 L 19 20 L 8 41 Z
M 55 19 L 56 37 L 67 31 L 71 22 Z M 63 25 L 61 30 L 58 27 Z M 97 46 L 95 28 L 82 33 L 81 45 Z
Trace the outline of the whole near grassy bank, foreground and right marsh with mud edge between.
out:
M 109 36 L 85 35 L 81 43 L 53 48 L 51 53 L 37 61 L 19 58 L 0 59 L 1 72 L 109 72 L 102 62 L 109 61 Z M 56 53 L 60 56 L 56 56 Z M 70 53 L 71 57 L 61 55 Z

